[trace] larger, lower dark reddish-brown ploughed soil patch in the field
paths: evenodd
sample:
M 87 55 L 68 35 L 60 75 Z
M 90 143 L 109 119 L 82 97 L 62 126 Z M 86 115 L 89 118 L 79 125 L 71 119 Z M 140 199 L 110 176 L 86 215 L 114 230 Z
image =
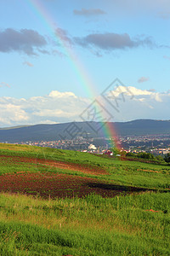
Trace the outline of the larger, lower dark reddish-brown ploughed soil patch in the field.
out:
M 40 195 L 44 199 L 84 197 L 95 193 L 103 197 L 113 197 L 122 193 L 144 191 L 133 187 L 104 183 L 96 178 L 78 177 L 60 173 L 18 173 L 0 177 L 0 191 Z

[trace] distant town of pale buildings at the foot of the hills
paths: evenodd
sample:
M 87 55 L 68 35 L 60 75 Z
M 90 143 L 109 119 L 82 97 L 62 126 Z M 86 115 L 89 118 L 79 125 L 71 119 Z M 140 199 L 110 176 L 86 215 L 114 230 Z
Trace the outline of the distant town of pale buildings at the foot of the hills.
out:
M 112 141 L 120 151 L 139 153 L 146 152 L 154 155 L 164 155 L 170 153 L 170 134 L 165 135 L 146 135 L 135 137 L 115 137 L 111 138 L 97 137 L 75 137 L 74 139 L 60 139 L 56 141 L 37 141 L 20 142 L 15 144 L 26 144 L 38 147 L 59 148 L 68 150 L 77 150 L 94 154 L 105 154 L 109 148 L 113 147 Z M 8 142 L 5 142 L 8 143 Z

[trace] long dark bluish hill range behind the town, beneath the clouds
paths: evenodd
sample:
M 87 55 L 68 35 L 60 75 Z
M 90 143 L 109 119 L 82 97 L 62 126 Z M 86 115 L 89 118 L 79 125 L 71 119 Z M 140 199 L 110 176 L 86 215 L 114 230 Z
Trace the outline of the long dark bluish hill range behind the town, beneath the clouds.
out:
M 112 122 L 110 127 L 120 136 L 170 134 L 170 120 L 139 119 L 129 122 Z M 56 125 L 17 126 L 0 129 L 0 142 L 54 141 L 82 137 L 105 137 L 104 123 L 76 122 Z

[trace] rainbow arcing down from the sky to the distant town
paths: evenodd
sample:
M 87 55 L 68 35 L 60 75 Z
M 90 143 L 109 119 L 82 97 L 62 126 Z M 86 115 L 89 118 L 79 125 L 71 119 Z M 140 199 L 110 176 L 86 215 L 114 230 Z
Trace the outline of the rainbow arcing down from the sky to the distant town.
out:
M 77 79 L 79 79 L 82 88 L 86 92 L 87 96 L 91 99 L 95 99 L 96 95 L 99 95 L 99 93 L 97 93 L 96 87 L 94 87 L 94 82 L 89 77 L 88 72 L 86 71 L 85 67 L 83 67 L 82 62 L 79 60 L 76 52 L 73 52 L 71 45 L 65 42 L 62 33 L 59 32 L 59 29 L 57 29 L 59 28 L 59 26 L 57 26 L 56 21 L 53 19 L 52 15 L 48 13 L 48 10 L 43 6 L 40 0 L 26 0 L 26 3 L 28 4 L 31 11 L 37 17 L 39 17 L 44 26 L 47 27 L 48 32 L 50 32 L 50 34 L 54 38 L 54 41 L 57 41 L 57 43 L 60 44 L 60 46 L 64 50 L 65 55 L 67 55 L 68 57 L 67 60 L 69 61 L 74 73 L 76 73 Z M 96 104 L 96 108 L 99 112 L 102 112 L 100 104 Z M 103 119 L 105 119 L 105 116 L 103 116 Z M 116 141 L 116 131 L 111 123 L 106 122 L 105 125 L 102 126 L 102 132 L 105 137 L 112 138 L 112 140 L 114 141 L 114 146 L 116 148 L 120 148 L 119 144 Z

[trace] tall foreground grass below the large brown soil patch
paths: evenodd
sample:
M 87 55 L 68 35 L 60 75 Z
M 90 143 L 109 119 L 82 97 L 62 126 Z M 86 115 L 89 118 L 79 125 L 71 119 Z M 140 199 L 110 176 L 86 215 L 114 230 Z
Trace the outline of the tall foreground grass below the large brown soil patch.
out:
M 18 255 L 169 255 L 167 193 L 55 201 L 1 194 L 0 201 L 0 252 L 8 241 Z

